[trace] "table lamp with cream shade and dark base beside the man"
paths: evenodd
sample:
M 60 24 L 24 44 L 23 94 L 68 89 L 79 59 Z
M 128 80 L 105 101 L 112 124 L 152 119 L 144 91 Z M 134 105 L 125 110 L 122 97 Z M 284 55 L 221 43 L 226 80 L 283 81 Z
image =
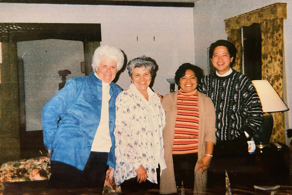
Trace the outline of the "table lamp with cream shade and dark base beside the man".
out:
M 264 112 L 263 123 L 258 133 L 253 136 L 256 145 L 267 145 L 273 130 L 273 117 L 270 113 L 286 111 L 289 108 L 267 80 L 252 80 Z

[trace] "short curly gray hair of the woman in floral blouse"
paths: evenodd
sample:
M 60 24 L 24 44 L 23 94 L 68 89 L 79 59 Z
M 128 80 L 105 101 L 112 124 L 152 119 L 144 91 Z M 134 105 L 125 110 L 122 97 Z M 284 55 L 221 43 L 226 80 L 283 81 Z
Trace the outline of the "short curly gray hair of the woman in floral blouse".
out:
M 153 76 L 155 71 L 157 71 L 158 68 L 154 59 L 143 55 L 141 57 L 137 57 L 129 61 L 129 63 L 127 64 L 129 76 L 132 78 L 132 72 L 134 68 L 139 68 L 141 66 L 145 66 L 145 68 L 148 68 L 150 70 L 151 77 Z

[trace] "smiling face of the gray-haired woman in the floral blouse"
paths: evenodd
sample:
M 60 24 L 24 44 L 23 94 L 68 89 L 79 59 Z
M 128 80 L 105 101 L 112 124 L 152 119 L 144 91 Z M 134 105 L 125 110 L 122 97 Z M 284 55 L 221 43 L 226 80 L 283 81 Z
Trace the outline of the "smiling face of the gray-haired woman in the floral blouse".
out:
M 132 71 L 131 81 L 141 94 L 143 94 L 143 92 L 147 92 L 147 87 L 151 82 L 150 70 L 145 68 L 145 66 L 134 68 Z

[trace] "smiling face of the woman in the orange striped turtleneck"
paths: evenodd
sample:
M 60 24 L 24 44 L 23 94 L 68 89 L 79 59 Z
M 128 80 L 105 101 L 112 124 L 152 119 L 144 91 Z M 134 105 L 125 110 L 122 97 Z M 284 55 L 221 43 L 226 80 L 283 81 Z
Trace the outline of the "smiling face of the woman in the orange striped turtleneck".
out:
M 185 76 L 180 78 L 180 88 L 190 93 L 197 88 L 197 77 L 192 70 L 186 70 Z

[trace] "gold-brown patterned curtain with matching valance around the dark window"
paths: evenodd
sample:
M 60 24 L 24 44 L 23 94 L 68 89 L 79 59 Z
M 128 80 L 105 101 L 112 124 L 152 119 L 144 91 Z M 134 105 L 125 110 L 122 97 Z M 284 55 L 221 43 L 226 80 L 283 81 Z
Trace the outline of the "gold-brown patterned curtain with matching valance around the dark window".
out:
M 262 36 L 262 79 L 268 80 L 283 99 L 284 19 L 287 3 L 274 3 L 225 20 L 228 41 L 237 48 L 233 68 L 242 72 L 241 28 L 259 23 Z M 272 113 L 274 126 L 270 142 L 286 143 L 284 113 Z

